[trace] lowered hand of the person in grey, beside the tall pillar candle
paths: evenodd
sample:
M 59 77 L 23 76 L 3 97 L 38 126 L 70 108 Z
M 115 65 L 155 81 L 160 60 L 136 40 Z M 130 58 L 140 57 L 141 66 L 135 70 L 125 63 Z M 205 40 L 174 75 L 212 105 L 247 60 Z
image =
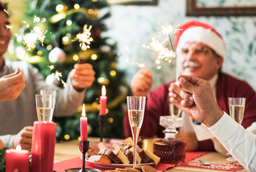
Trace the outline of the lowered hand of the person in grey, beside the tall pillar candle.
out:
M 13 140 L 13 147 L 20 145 L 21 149 L 31 150 L 32 136 L 33 136 L 33 127 L 27 126 L 23 128 L 15 136 Z

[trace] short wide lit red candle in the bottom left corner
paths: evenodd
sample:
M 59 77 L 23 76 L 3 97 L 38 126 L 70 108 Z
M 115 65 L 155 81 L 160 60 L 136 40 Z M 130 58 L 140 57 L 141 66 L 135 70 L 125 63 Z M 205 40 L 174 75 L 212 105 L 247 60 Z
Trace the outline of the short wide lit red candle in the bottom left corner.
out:
M 29 151 L 21 150 L 20 145 L 16 149 L 7 149 L 5 152 L 6 172 L 29 172 Z

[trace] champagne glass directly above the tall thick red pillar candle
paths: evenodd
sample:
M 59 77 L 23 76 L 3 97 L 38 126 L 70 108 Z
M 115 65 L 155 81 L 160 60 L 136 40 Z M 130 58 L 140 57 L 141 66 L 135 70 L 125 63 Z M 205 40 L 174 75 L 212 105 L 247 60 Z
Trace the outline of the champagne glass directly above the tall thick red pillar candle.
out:
M 55 95 L 36 94 L 37 119 L 39 121 L 52 121 Z

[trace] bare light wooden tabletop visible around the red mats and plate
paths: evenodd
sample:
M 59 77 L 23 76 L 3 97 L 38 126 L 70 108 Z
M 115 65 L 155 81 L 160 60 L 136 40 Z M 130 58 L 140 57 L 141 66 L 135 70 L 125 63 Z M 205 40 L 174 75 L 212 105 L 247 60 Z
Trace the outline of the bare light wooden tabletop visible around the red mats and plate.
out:
M 90 143 L 99 141 L 99 138 L 89 138 Z M 104 141 L 104 139 L 103 139 Z M 79 141 L 78 140 L 72 140 L 72 141 L 64 141 L 61 143 L 56 143 L 55 146 L 55 154 L 54 154 L 54 163 L 58 163 L 62 160 L 69 160 L 74 157 L 80 157 L 82 154 L 79 147 Z M 219 164 L 227 164 L 227 157 L 224 155 L 221 155 L 217 152 L 210 152 L 207 155 L 203 155 L 202 157 L 198 157 L 195 160 L 205 160 L 209 163 L 219 163 Z M 208 170 L 203 168 L 190 168 L 190 167 L 176 167 L 171 168 L 170 170 L 167 170 L 166 172 L 176 172 L 176 171 L 209 171 L 214 172 L 214 170 Z M 239 172 L 246 172 L 245 169 L 239 171 Z

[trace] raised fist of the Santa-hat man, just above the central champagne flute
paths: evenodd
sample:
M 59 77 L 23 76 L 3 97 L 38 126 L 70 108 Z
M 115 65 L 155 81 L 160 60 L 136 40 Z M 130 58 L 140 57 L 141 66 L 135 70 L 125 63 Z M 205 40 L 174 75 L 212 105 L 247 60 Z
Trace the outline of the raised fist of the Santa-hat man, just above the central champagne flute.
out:
M 131 82 L 132 93 L 135 96 L 146 96 L 153 84 L 152 73 L 147 69 L 140 69 Z

